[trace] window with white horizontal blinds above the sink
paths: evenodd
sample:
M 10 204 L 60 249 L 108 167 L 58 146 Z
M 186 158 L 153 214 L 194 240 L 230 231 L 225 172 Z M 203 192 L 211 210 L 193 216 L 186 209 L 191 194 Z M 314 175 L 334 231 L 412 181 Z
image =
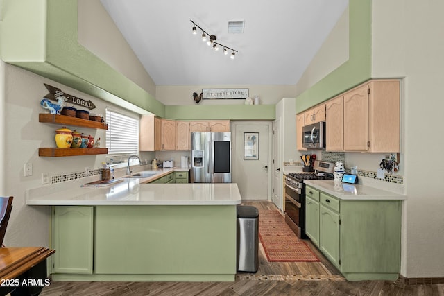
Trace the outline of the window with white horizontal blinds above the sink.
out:
M 108 154 L 139 153 L 139 120 L 108 109 L 105 118 Z

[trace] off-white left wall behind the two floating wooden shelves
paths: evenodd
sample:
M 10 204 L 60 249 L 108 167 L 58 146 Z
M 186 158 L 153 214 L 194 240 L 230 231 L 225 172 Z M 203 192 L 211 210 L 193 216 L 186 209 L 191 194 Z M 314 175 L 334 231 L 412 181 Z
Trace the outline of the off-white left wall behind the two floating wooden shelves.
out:
M 96 109 L 92 112 L 105 114 L 106 107 L 127 112 L 117 105 L 110 105 L 98 98 L 88 96 L 58 82 L 37 76 L 10 64 L 1 62 L 0 81 L 5 80 L 1 103 L 1 143 L 0 155 L 2 168 L 0 177 L 0 195 L 14 196 L 13 209 L 8 224 L 4 244 L 7 246 L 48 246 L 49 245 L 49 207 L 27 206 L 26 189 L 42 186 L 42 173 L 59 175 L 61 173 L 82 172 L 85 167 L 100 168 L 105 155 L 87 155 L 75 157 L 39 157 L 39 147 L 56 147 L 56 130 L 62 125 L 39 123 L 38 114 L 45 113 L 40 101 L 48 93 L 44 83 L 62 89 L 63 92 L 91 100 Z M 138 114 L 133 114 L 139 116 Z M 69 127 L 78 132 L 101 137 L 101 147 L 105 146 L 105 130 Z M 151 153 L 142 155 L 142 159 L 151 159 Z M 24 177 L 24 164 L 33 165 L 33 175 Z M 98 177 L 99 178 L 99 177 Z

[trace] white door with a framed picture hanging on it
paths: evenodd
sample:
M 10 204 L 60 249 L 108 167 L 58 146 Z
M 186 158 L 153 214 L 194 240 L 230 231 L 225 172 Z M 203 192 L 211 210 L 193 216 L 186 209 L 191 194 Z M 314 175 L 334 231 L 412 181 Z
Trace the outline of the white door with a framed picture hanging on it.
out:
M 271 132 L 271 124 L 234 122 L 232 132 L 232 182 L 237 183 L 242 200 L 271 199 L 268 192 L 268 133 Z M 256 135 L 259 139 L 253 137 Z

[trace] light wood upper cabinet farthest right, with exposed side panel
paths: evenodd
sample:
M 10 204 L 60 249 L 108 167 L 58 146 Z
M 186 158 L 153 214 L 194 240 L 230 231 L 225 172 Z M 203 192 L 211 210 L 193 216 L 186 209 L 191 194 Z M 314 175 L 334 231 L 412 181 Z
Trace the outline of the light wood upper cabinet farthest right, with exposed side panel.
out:
M 345 151 L 400 151 L 400 83 L 371 80 L 343 95 Z

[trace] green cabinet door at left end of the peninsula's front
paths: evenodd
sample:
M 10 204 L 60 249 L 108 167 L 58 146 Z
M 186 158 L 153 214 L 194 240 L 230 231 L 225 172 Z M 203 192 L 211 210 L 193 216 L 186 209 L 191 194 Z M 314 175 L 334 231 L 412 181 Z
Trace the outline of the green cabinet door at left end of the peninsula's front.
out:
M 94 207 L 53 207 L 52 270 L 64 274 L 92 274 Z

